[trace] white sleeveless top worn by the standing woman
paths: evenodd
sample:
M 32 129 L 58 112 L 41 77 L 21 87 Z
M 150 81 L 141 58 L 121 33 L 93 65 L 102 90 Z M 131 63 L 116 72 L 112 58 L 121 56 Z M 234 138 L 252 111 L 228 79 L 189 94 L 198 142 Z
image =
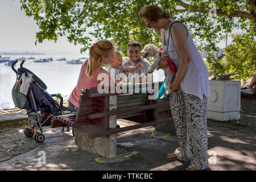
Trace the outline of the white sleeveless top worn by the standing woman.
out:
M 175 20 L 174 22 L 176 22 Z M 183 25 L 184 26 L 184 25 Z M 185 26 L 184 26 L 185 27 Z M 187 28 L 186 28 L 187 29 Z M 164 40 L 164 30 L 161 29 L 161 37 Z M 199 51 L 197 51 L 196 45 L 193 42 L 190 32 L 188 31 L 188 46 L 191 51 L 191 61 L 184 77 L 180 81 L 180 88 L 184 93 L 193 94 L 203 100 L 204 95 L 209 98 L 209 80 L 208 80 L 208 69 L 201 57 Z M 168 48 L 168 50 L 167 50 Z M 174 42 L 171 38 L 171 30 L 169 32 L 169 41 L 167 45 L 164 45 L 164 51 L 168 52 L 170 59 L 174 61 L 177 69 L 179 69 L 181 57 L 177 52 Z

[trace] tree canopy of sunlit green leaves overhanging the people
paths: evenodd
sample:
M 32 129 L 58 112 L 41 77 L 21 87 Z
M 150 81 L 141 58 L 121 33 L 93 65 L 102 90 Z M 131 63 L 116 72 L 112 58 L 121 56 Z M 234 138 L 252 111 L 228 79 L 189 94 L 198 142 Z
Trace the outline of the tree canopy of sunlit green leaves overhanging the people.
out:
M 234 28 L 244 32 L 253 30 L 250 31 L 253 39 L 244 38 L 249 44 L 255 41 L 256 0 L 20 0 L 20 3 L 21 9 L 27 16 L 32 16 L 40 28 L 36 33 L 36 43 L 46 39 L 56 42 L 60 36 L 66 35 L 70 43 L 84 46 L 81 52 L 92 45 L 92 36 L 98 40 L 114 40 L 124 54 L 131 40 L 141 42 L 142 47 L 148 43 L 160 46 L 159 32 L 147 28 L 138 16 L 139 10 L 149 4 L 162 7 L 172 19 L 183 22 L 191 30 L 200 50 L 218 51 L 217 43 Z M 227 51 L 234 51 L 235 47 Z M 244 58 L 237 56 L 236 59 L 243 62 Z M 214 60 L 213 56 L 209 63 Z

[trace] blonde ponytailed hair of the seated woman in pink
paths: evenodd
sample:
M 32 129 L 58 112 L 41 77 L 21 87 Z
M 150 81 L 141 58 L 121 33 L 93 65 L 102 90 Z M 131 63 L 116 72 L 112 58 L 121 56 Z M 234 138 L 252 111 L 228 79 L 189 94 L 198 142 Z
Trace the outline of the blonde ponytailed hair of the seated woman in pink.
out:
M 109 40 L 99 40 L 89 49 L 89 60 L 86 65 L 86 75 L 92 77 L 101 63 L 101 56 L 108 57 L 115 51 L 115 44 Z

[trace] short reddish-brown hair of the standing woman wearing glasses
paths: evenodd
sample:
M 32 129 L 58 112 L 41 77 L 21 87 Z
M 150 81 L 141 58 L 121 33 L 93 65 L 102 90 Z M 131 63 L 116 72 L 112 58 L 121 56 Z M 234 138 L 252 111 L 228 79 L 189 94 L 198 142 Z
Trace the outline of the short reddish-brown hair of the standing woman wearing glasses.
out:
M 164 13 L 164 11 L 156 5 L 147 5 L 142 7 L 139 11 L 139 18 L 147 18 L 148 20 L 156 20 L 160 18 L 170 18 L 170 13 Z

